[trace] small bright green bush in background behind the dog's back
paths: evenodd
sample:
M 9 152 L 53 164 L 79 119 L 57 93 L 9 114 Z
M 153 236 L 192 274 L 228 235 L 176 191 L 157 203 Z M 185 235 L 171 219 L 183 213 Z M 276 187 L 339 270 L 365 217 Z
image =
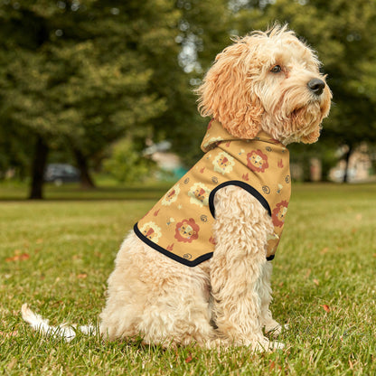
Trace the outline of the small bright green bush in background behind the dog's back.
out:
M 129 138 L 123 138 L 112 146 L 111 156 L 103 161 L 103 167 L 119 183 L 140 182 L 151 175 L 155 164 L 136 150 Z

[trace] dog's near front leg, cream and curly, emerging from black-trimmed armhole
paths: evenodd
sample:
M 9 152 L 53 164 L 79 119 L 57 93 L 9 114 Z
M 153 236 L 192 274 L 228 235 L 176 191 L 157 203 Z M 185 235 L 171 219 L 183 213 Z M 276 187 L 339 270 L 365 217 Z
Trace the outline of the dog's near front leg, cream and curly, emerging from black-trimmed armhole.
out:
M 216 193 L 211 258 L 214 321 L 235 345 L 255 350 L 280 348 L 262 333 L 258 279 L 265 267 L 267 235 L 273 230 L 268 213 L 243 189 L 228 186 Z

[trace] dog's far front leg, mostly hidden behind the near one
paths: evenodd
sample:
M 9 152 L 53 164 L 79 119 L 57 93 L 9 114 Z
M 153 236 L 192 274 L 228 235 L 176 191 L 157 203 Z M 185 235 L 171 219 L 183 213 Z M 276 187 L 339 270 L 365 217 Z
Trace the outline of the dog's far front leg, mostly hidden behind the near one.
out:
M 273 270 L 271 262 L 267 262 L 261 269 L 261 276 L 258 279 L 258 295 L 261 299 L 261 324 L 265 327 L 265 332 L 273 336 L 282 332 L 282 325 L 273 319 L 269 305 L 272 301 L 272 290 L 270 287 L 270 277 Z M 285 325 L 286 327 L 286 325 Z

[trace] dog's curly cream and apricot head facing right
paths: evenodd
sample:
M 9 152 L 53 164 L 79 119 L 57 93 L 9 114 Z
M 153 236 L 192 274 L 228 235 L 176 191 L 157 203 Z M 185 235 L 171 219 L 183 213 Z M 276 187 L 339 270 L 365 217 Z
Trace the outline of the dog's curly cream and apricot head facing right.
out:
M 314 143 L 332 99 L 319 67 L 287 26 L 250 33 L 217 55 L 197 90 L 201 114 L 233 136 Z

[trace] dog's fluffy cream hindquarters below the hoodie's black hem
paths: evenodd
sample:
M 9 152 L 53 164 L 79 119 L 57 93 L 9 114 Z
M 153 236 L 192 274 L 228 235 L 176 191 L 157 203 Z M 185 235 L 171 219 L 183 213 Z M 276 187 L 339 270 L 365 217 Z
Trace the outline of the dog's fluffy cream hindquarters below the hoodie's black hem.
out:
M 209 346 L 214 329 L 209 276 L 203 264 L 186 267 L 131 234 L 108 279 L 101 334 L 109 340 L 141 334 L 144 343 Z

